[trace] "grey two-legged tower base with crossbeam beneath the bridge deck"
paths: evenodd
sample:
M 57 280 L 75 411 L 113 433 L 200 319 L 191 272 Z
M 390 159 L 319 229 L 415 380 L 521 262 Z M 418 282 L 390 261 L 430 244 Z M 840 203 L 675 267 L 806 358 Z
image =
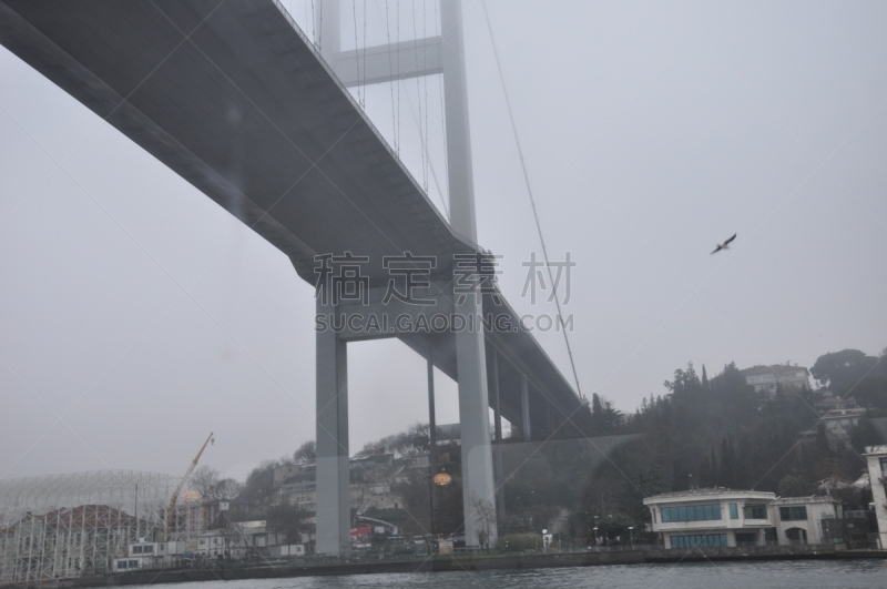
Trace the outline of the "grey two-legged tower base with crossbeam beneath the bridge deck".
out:
M 347 556 L 350 551 L 350 496 L 349 496 L 349 447 L 348 447 L 348 342 L 396 337 L 396 317 L 408 314 L 416 325 L 419 316 L 430 322 L 435 315 L 462 315 L 466 324 L 469 314 L 480 316 L 479 296 L 459 296 L 453 304 L 453 287 L 450 282 L 437 283 L 427 291 L 417 293 L 422 298 L 434 299 L 430 306 L 409 305 L 389 301 L 383 303 L 386 290 L 369 288 L 368 301 L 332 304 L 317 297 L 318 317 L 336 315 L 336 321 L 326 325 L 348 326 L 343 329 L 317 331 L 317 552 Z M 465 293 L 459 293 L 465 295 Z M 359 314 L 364 317 L 388 316 L 387 332 L 350 331 L 348 318 Z M 318 326 L 320 324 L 318 323 Z M 489 395 L 487 383 L 487 358 L 482 328 L 462 329 L 457 333 L 431 333 L 426 337 L 431 346 L 422 354 L 436 359 L 436 346 L 445 346 L 447 338 L 455 338 L 456 379 L 459 386 L 459 423 L 461 429 L 462 507 L 465 509 L 466 544 L 479 546 L 481 531 L 493 545 L 498 539 L 496 486 L 493 485 L 492 445 L 490 441 Z M 452 342 L 450 341 L 450 344 Z M 500 434 L 501 436 L 501 434 Z

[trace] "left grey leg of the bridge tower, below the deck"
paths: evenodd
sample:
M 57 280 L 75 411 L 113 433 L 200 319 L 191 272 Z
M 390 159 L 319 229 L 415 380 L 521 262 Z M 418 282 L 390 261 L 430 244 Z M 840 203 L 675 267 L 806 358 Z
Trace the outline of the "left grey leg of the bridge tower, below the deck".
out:
M 317 313 L 335 309 L 317 301 Z M 347 344 L 332 329 L 317 332 L 317 552 L 348 556 Z

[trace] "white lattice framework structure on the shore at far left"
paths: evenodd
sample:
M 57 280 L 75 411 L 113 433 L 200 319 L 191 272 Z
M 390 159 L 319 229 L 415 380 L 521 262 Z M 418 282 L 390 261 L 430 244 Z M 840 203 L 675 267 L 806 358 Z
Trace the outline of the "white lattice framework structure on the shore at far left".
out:
M 179 481 L 129 470 L 0 480 L 0 586 L 110 572 L 130 544 L 162 534 Z

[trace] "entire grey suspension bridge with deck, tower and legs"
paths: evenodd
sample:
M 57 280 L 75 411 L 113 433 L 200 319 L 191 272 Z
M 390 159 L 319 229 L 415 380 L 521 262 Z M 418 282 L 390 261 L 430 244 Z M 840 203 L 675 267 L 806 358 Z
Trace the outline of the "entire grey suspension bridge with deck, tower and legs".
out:
M 345 326 L 316 336 L 317 550 L 349 550 L 347 344 L 379 337 L 427 358 L 431 396 L 432 366 L 458 383 L 466 541 L 477 546 L 490 526 L 477 501 L 503 511 L 491 445 L 502 419 L 542 440 L 571 425 L 581 402 L 495 281 L 478 280 L 493 272 L 478 262 L 489 254 L 477 243 L 461 3 L 432 2 L 432 34 L 422 19 L 421 34 L 400 40 L 398 20 L 394 40 L 389 30 L 370 47 L 366 2 L 363 43 L 357 4 L 312 2 L 308 34 L 276 0 L 1 0 L 0 42 L 279 248 L 305 281 L 356 278 L 334 280 L 339 296 L 316 303 L 318 317 Z M 355 47 L 343 49 L 349 16 Z M 442 79 L 448 217 L 428 194 L 427 153 L 417 180 L 398 133 L 389 144 L 363 108 L 370 85 L 420 77 Z M 329 262 L 319 274 L 318 260 Z M 421 304 L 388 296 L 392 260 L 407 262 L 401 275 L 419 275 L 411 295 Z M 475 261 L 467 285 L 460 260 Z M 356 326 L 358 315 L 386 327 Z M 412 328 L 435 316 L 500 317 L 512 328 Z

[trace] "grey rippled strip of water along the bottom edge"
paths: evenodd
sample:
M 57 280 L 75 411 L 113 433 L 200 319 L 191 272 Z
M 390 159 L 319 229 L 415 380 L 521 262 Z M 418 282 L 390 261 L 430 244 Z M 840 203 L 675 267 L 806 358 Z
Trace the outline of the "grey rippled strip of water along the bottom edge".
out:
M 345 577 L 295 577 L 289 579 L 247 579 L 177 585 L 177 589 L 361 589 L 448 588 L 546 589 L 711 589 L 713 587 L 778 587 L 812 589 L 835 587 L 869 589 L 887 585 L 887 561 L 775 561 L 705 562 L 681 565 L 618 565 L 563 569 L 495 570 L 466 572 L 417 572 L 398 575 L 354 575 Z M 149 587 L 149 586 L 133 586 Z M 152 586 L 156 587 L 156 586 Z

